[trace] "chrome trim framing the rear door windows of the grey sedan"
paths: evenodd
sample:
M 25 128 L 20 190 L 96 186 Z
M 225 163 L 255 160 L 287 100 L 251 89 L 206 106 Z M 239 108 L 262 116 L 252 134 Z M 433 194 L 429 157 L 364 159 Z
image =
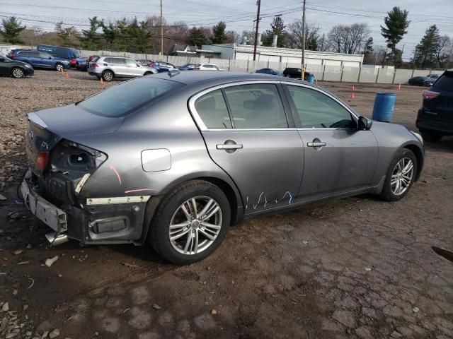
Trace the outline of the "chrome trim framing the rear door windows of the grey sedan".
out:
M 202 97 L 203 95 L 210 93 L 214 90 L 219 90 L 222 88 L 228 88 L 228 87 L 233 87 L 237 85 L 257 85 L 257 84 L 270 84 L 270 85 L 280 85 L 280 81 L 278 80 L 251 80 L 251 81 L 236 81 L 234 83 L 223 83 L 222 85 L 215 85 L 214 87 L 207 88 L 205 90 L 202 90 L 201 92 L 193 95 L 189 99 L 189 109 L 190 113 L 192 113 L 193 119 L 195 119 L 195 123 L 197 124 L 198 128 L 200 131 L 288 131 L 290 129 L 295 130 L 295 128 L 278 128 L 278 129 L 263 129 L 263 128 L 256 128 L 256 129 L 208 129 L 203 120 L 200 117 L 200 114 L 198 114 L 197 109 L 195 109 L 195 101 L 199 97 Z M 282 106 L 285 107 L 282 98 L 280 98 L 282 101 Z

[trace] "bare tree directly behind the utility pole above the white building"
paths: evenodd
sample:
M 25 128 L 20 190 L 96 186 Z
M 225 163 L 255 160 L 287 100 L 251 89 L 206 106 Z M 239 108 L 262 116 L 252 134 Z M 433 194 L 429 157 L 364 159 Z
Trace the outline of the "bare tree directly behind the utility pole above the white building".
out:
M 288 25 L 287 46 L 289 48 L 302 49 L 302 20 L 294 20 Z M 305 26 L 305 48 L 316 51 L 319 49 L 319 25 L 316 23 L 307 23 Z

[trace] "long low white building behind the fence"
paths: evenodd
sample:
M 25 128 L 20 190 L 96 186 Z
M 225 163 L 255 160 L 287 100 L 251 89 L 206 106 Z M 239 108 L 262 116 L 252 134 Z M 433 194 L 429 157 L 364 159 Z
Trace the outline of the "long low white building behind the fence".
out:
M 207 44 L 202 49 L 219 59 L 253 60 L 253 45 L 249 44 Z M 296 64 L 302 62 L 302 50 L 279 47 L 256 47 L 256 60 Z M 360 67 L 363 54 L 305 51 L 306 66 L 345 66 Z

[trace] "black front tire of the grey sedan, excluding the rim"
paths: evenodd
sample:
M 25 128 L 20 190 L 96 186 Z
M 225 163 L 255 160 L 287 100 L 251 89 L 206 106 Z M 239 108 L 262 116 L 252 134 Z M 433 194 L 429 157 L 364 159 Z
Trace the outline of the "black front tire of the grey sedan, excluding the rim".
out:
M 403 159 L 412 160 L 413 171 L 412 171 L 412 175 L 411 175 L 411 181 L 408 184 L 405 191 L 403 191 L 401 194 L 395 194 L 391 188 L 391 186 L 392 186 L 391 179 L 392 179 L 392 175 L 394 174 L 394 172 L 396 170 L 396 166 L 398 165 L 398 162 L 400 162 Z M 381 194 L 379 195 L 380 198 L 382 198 L 382 200 L 384 200 L 384 201 L 398 201 L 401 198 L 403 198 L 403 196 L 406 196 L 406 194 L 408 194 L 408 191 L 410 191 L 413 181 L 415 179 L 415 176 L 417 174 L 417 168 L 418 168 L 417 166 L 418 166 L 417 158 L 415 157 L 415 155 L 413 154 L 413 152 L 411 150 L 408 150 L 407 148 L 401 148 L 401 150 L 398 150 L 398 152 L 396 153 L 396 155 L 394 157 L 394 160 L 392 160 L 389 165 L 389 169 L 387 169 L 384 187 L 382 189 Z

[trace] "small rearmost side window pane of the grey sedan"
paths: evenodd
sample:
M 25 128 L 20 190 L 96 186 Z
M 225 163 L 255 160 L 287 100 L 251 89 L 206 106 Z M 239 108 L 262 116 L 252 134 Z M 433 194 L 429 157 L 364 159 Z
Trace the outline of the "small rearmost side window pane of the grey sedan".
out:
M 195 101 L 195 109 L 208 129 L 231 129 L 222 90 L 213 90 Z

